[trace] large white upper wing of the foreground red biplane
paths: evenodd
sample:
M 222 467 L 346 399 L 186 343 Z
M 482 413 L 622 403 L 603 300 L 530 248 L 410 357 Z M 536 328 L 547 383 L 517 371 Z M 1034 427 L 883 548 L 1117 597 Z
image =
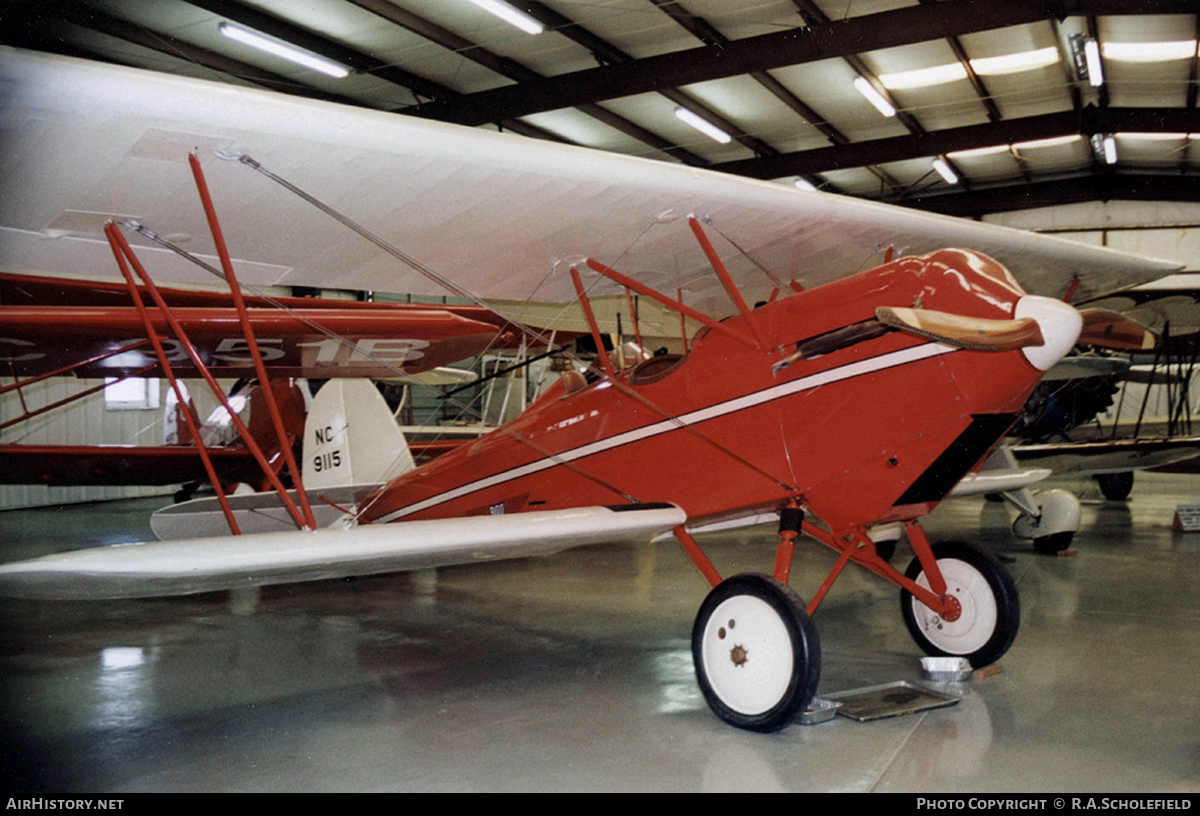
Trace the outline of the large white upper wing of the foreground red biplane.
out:
M 848 197 L 479 128 L 0 48 L 0 266 L 112 276 L 102 221 L 211 241 L 185 160 L 199 149 L 251 283 L 444 294 L 346 227 L 214 150 L 242 151 L 481 298 L 569 300 L 590 256 L 689 302 L 713 293 L 695 214 L 808 287 L 896 254 L 970 247 L 1030 292 L 1082 300 L 1176 269 L 1096 247 Z M 666 215 L 665 214 L 670 214 Z M 754 298 L 772 283 L 713 233 Z M 140 239 L 136 244 L 143 244 Z M 203 280 L 157 247 L 164 281 Z

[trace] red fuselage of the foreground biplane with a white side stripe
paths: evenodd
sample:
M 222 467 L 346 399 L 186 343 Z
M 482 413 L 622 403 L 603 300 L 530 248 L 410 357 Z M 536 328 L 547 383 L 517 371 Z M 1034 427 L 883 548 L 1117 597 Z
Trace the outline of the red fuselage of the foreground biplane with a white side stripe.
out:
M 1002 266 L 960 250 L 792 294 L 724 323 L 766 348 L 704 329 L 686 356 L 571 394 L 556 385 L 504 428 L 390 484 L 367 515 L 670 502 L 697 522 L 799 499 L 833 530 L 914 518 L 1008 430 L 1043 372 L 1020 350 L 880 331 L 875 310 L 1012 319 L 1022 295 Z M 796 359 L 799 347 L 810 353 Z

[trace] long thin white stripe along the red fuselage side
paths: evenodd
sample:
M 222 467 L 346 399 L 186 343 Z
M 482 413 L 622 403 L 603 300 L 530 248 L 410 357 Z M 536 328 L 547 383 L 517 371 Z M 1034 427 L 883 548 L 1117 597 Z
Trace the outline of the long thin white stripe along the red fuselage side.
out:
M 556 454 L 553 456 L 547 456 L 546 458 L 538 460 L 535 462 L 529 462 L 528 464 L 522 464 L 520 467 L 511 468 L 509 470 L 503 470 L 491 476 L 485 476 L 482 479 L 476 479 L 475 481 L 468 482 L 449 490 L 444 493 L 438 493 L 427 499 L 418 502 L 416 504 L 409 504 L 408 506 L 401 508 L 400 510 L 394 510 L 384 516 L 377 518 L 377 522 L 389 522 L 396 521 L 397 518 L 403 518 L 414 512 L 420 512 L 421 510 L 427 510 L 428 508 L 443 504 L 444 502 L 450 502 L 452 499 L 474 493 L 475 491 L 486 490 L 487 487 L 494 487 L 496 485 L 502 485 L 506 481 L 512 481 L 514 479 L 520 479 L 522 476 L 528 476 L 533 473 L 545 470 L 547 468 L 563 464 L 565 462 L 574 462 L 576 460 L 584 458 L 587 456 L 593 456 L 595 454 L 601 454 L 606 450 L 612 450 L 613 448 L 620 448 L 622 445 L 628 445 L 634 442 L 640 442 L 642 439 L 648 439 L 650 437 L 656 437 L 660 433 L 668 433 L 670 431 L 678 431 L 686 425 L 697 425 L 700 422 L 706 422 L 710 419 L 716 419 L 718 416 L 725 416 L 726 414 L 732 414 L 739 410 L 745 410 L 746 408 L 754 408 L 764 402 L 770 402 L 772 400 L 778 400 L 780 397 L 786 397 L 792 394 L 798 394 L 800 391 L 808 391 L 821 385 L 828 385 L 829 383 L 838 383 L 844 379 L 851 379 L 852 377 L 862 377 L 863 374 L 870 374 L 876 371 L 882 371 L 884 368 L 894 368 L 895 366 L 902 366 L 908 362 L 917 362 L 918 360 L 925 360 L 928 358 L 938 356 L 941 354 L 948 354 L 954 352 L 950 346 L 943 346 L 941 343 L 925 343 L 923 346 L 914 346 L 912 348 L 904 348 L 899 352 L 889 352 L 887 354 L 881 354 L 880 356 L 871 358 L 869 360 L 859 360 L 858 362 L 851 362 L 845 366 L 839 366 L 838 368 L 830 368 L 829 371 L 822 371 L 817 374 L 811 374 L 809 377 L 802 377 L 794 379 L 790 383 L 781 383 L 780 385 L 773 385 L 772 388 L 764 389 L 762 391 L 756 391 L 755 394 L 746 394 L 745 396 L 737 397 L 734 400 L 727 400 L 726 402 L 718 402 L 716 404 L 708 406 L 707 408 L 700 408 L 688 414 L 680 414 L 672 419 L 662 420 L 661 422 L 655 422 L 653 425 L 646 425 L 632 431 L 625 431 L 624 433 L 618 433 L 616 436 L 608 437 L 607 439 L 599 439 L 596 442 L 588 443 L 586 445 L 580 445 L 571 450 Z

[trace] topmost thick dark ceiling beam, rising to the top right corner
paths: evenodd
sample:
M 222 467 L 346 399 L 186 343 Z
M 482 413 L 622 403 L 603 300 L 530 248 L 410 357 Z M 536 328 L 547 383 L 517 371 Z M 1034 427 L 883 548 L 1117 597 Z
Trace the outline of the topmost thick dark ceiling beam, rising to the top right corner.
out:
M 205 0 L 211 1 L 211 0 Z M 526 4 L 536 8 L 540 4 Z M 412 113 L 462 125 L 481 125 L 588 102 L 662 92 L 680 85 L 725 79 L 832 58 L 853 58 L 881 48 L 947 40 L 974 31 L 1057 19 L 1070 14 L 1194 13 L 1195 0 L 943 0 L 703 46 L 520 85 L 427 102 Z M 580 26 L 557 29 L 578 36 Z M 611 46 L 610 46 L 611 48 Z M 600 50 L 595 53 L 601 54 Z

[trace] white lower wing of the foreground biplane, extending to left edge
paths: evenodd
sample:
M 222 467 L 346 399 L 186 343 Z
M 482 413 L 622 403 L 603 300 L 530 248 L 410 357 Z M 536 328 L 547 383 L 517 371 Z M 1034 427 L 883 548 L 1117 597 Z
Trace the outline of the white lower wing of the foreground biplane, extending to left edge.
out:
M 648 540 L 685 520 L 674 505 L 646 504 L 128 544 L 5 564 L 0 594 L 151 598 L 398 572 Z

